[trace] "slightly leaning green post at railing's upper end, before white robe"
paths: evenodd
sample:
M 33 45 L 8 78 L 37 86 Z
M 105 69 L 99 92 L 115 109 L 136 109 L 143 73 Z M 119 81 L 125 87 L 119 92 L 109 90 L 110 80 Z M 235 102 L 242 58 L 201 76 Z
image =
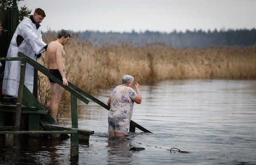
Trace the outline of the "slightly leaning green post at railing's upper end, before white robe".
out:
M 25 71 L 26 71 L 26 61 L 21 61 L 21 73 L 19 79 L 19 90 L 17 98 L 17 108 L 16 108 L 16 117 L 15 117 L 15 130 L 19 130 L 21 122 L 21 106 L 22 106 L 22 96 L 23 96 L 23 86 L 25 81 Z

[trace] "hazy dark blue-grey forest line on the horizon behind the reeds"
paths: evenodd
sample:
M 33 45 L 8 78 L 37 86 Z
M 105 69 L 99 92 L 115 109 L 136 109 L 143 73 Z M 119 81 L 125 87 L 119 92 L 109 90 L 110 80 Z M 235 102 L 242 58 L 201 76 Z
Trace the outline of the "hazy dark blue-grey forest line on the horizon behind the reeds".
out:
M 239 46 L 241 48 L 256 44 L 256 29 L 229 29 L 204 32 L 202 30 L 186 32 L 78 32 L 82 40 L 88 40 L 94 45 L 123 44 L 143 46 L 147 43 L 172 46 L 173 48 L 207 48 L 208 46 Z

